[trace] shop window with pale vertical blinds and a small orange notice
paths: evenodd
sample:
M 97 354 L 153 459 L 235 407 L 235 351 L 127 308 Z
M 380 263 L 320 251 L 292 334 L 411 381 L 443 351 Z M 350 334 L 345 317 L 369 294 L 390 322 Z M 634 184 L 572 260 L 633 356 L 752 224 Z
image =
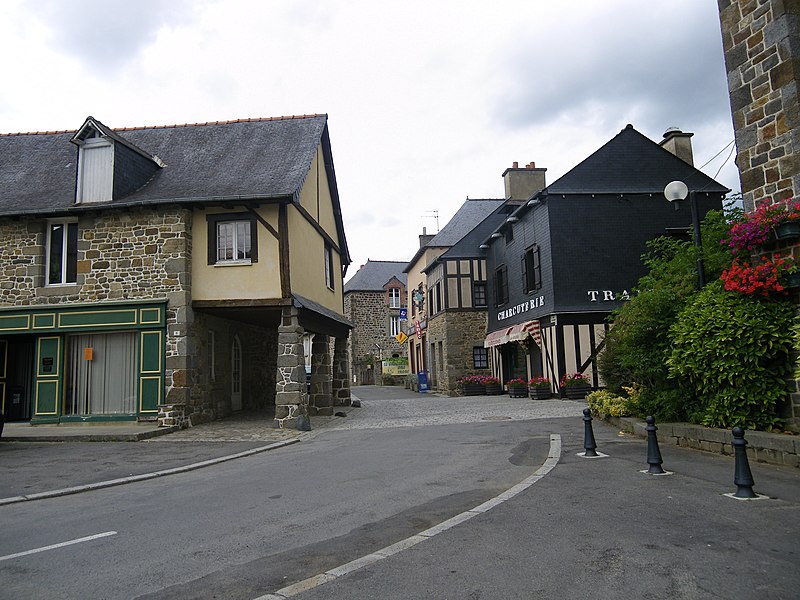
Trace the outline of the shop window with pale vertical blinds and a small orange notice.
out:
M 135 414 L 137 332 L 67 337 L 65 415 Z

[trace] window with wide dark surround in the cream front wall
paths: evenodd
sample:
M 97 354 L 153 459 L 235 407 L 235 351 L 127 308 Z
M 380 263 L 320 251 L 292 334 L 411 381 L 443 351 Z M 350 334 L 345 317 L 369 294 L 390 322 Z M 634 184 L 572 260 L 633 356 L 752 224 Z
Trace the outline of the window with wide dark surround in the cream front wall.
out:
M 249 213 L 208 215 L 208 264 L 258 262 L 258 235 Z

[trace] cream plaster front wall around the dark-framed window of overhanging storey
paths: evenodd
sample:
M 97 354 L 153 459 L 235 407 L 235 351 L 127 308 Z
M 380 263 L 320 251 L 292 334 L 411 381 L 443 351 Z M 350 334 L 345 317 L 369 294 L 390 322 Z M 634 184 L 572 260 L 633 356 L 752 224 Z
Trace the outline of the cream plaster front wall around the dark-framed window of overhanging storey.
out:
M 258 223 L 258 262 L 242 266 L 208 264 L 208 222 L 206 215 L 240 212 L 230 210 L 195 210 L 192 222 L 192 298 L 194 300 L 268 299 L 281 297 L 278 240 Z M 258 214 L 278 230 L 277 206 L 263 206 Z

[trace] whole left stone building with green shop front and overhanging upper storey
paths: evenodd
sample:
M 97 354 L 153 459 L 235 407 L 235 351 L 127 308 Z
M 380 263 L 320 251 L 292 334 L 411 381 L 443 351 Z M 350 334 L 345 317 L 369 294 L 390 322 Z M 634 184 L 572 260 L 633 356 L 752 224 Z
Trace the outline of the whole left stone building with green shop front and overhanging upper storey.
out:
M 123 130 L 89 117 L 0 135 L 0 155 L 7 419 L 250 409 L 293 425 L 349 403 L 350 259 L 325 115 Z

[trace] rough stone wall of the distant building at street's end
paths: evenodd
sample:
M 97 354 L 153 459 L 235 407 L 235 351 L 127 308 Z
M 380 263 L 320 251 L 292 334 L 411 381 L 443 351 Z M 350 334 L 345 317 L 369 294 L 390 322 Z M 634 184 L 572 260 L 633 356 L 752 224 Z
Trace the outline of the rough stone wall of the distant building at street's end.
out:
M 351 373 L 356 385 L 365 383 L 367 356 L 374 357 L 373 383 L 380 383 L 379 356 L 389 358 L 393 354 L 406 356 L 405 345 L 390 335 L 389 317 L 399 310 L 390 309 L 386 303 L 386 292 L 347 292 L 344 296 L 345 317 L 353 323 L 350 332 Z M 401 329 L 402 329 L 401 321 Z M 377 346 L 376 346 L 377 344 Z

